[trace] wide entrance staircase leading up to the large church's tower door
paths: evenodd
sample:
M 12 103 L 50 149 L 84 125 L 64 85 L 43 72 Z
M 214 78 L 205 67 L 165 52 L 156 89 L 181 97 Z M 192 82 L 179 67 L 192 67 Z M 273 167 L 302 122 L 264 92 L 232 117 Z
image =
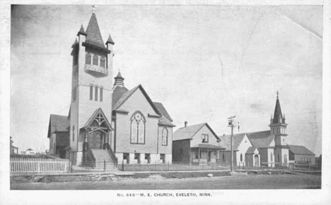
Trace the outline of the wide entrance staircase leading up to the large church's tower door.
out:
M 118 170 L 117 165 L 112 161 L 110 153 L 106 149 L 91 149 L 95 158 L 94 170 Z

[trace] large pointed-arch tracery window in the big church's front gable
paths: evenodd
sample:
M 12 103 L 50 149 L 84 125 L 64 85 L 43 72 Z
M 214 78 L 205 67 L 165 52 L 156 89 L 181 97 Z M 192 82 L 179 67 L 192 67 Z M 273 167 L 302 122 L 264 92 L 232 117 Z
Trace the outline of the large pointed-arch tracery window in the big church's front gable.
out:
M 131 117 L 131 136 L 132 144 L 145 144 L 145 117 L 137 111 Z

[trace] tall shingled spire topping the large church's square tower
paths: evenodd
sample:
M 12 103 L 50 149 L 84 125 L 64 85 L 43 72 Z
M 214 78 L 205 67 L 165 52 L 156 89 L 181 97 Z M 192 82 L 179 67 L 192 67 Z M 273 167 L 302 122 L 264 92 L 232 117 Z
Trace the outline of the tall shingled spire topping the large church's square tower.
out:
M 86 28 L 86 43 L 96 47 L 105 48 L 103 44 L 103 37 L 101 36 L 98 21 L 95 13 L 92 13 L 88 27 Z

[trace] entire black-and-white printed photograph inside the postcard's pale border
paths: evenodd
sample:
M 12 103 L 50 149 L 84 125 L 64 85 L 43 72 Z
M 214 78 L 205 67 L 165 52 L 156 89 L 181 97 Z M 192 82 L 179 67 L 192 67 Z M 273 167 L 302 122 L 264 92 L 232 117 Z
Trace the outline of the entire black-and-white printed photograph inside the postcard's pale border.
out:
M 324 192 L 323 4 L 9 13 L 10 192 Z

